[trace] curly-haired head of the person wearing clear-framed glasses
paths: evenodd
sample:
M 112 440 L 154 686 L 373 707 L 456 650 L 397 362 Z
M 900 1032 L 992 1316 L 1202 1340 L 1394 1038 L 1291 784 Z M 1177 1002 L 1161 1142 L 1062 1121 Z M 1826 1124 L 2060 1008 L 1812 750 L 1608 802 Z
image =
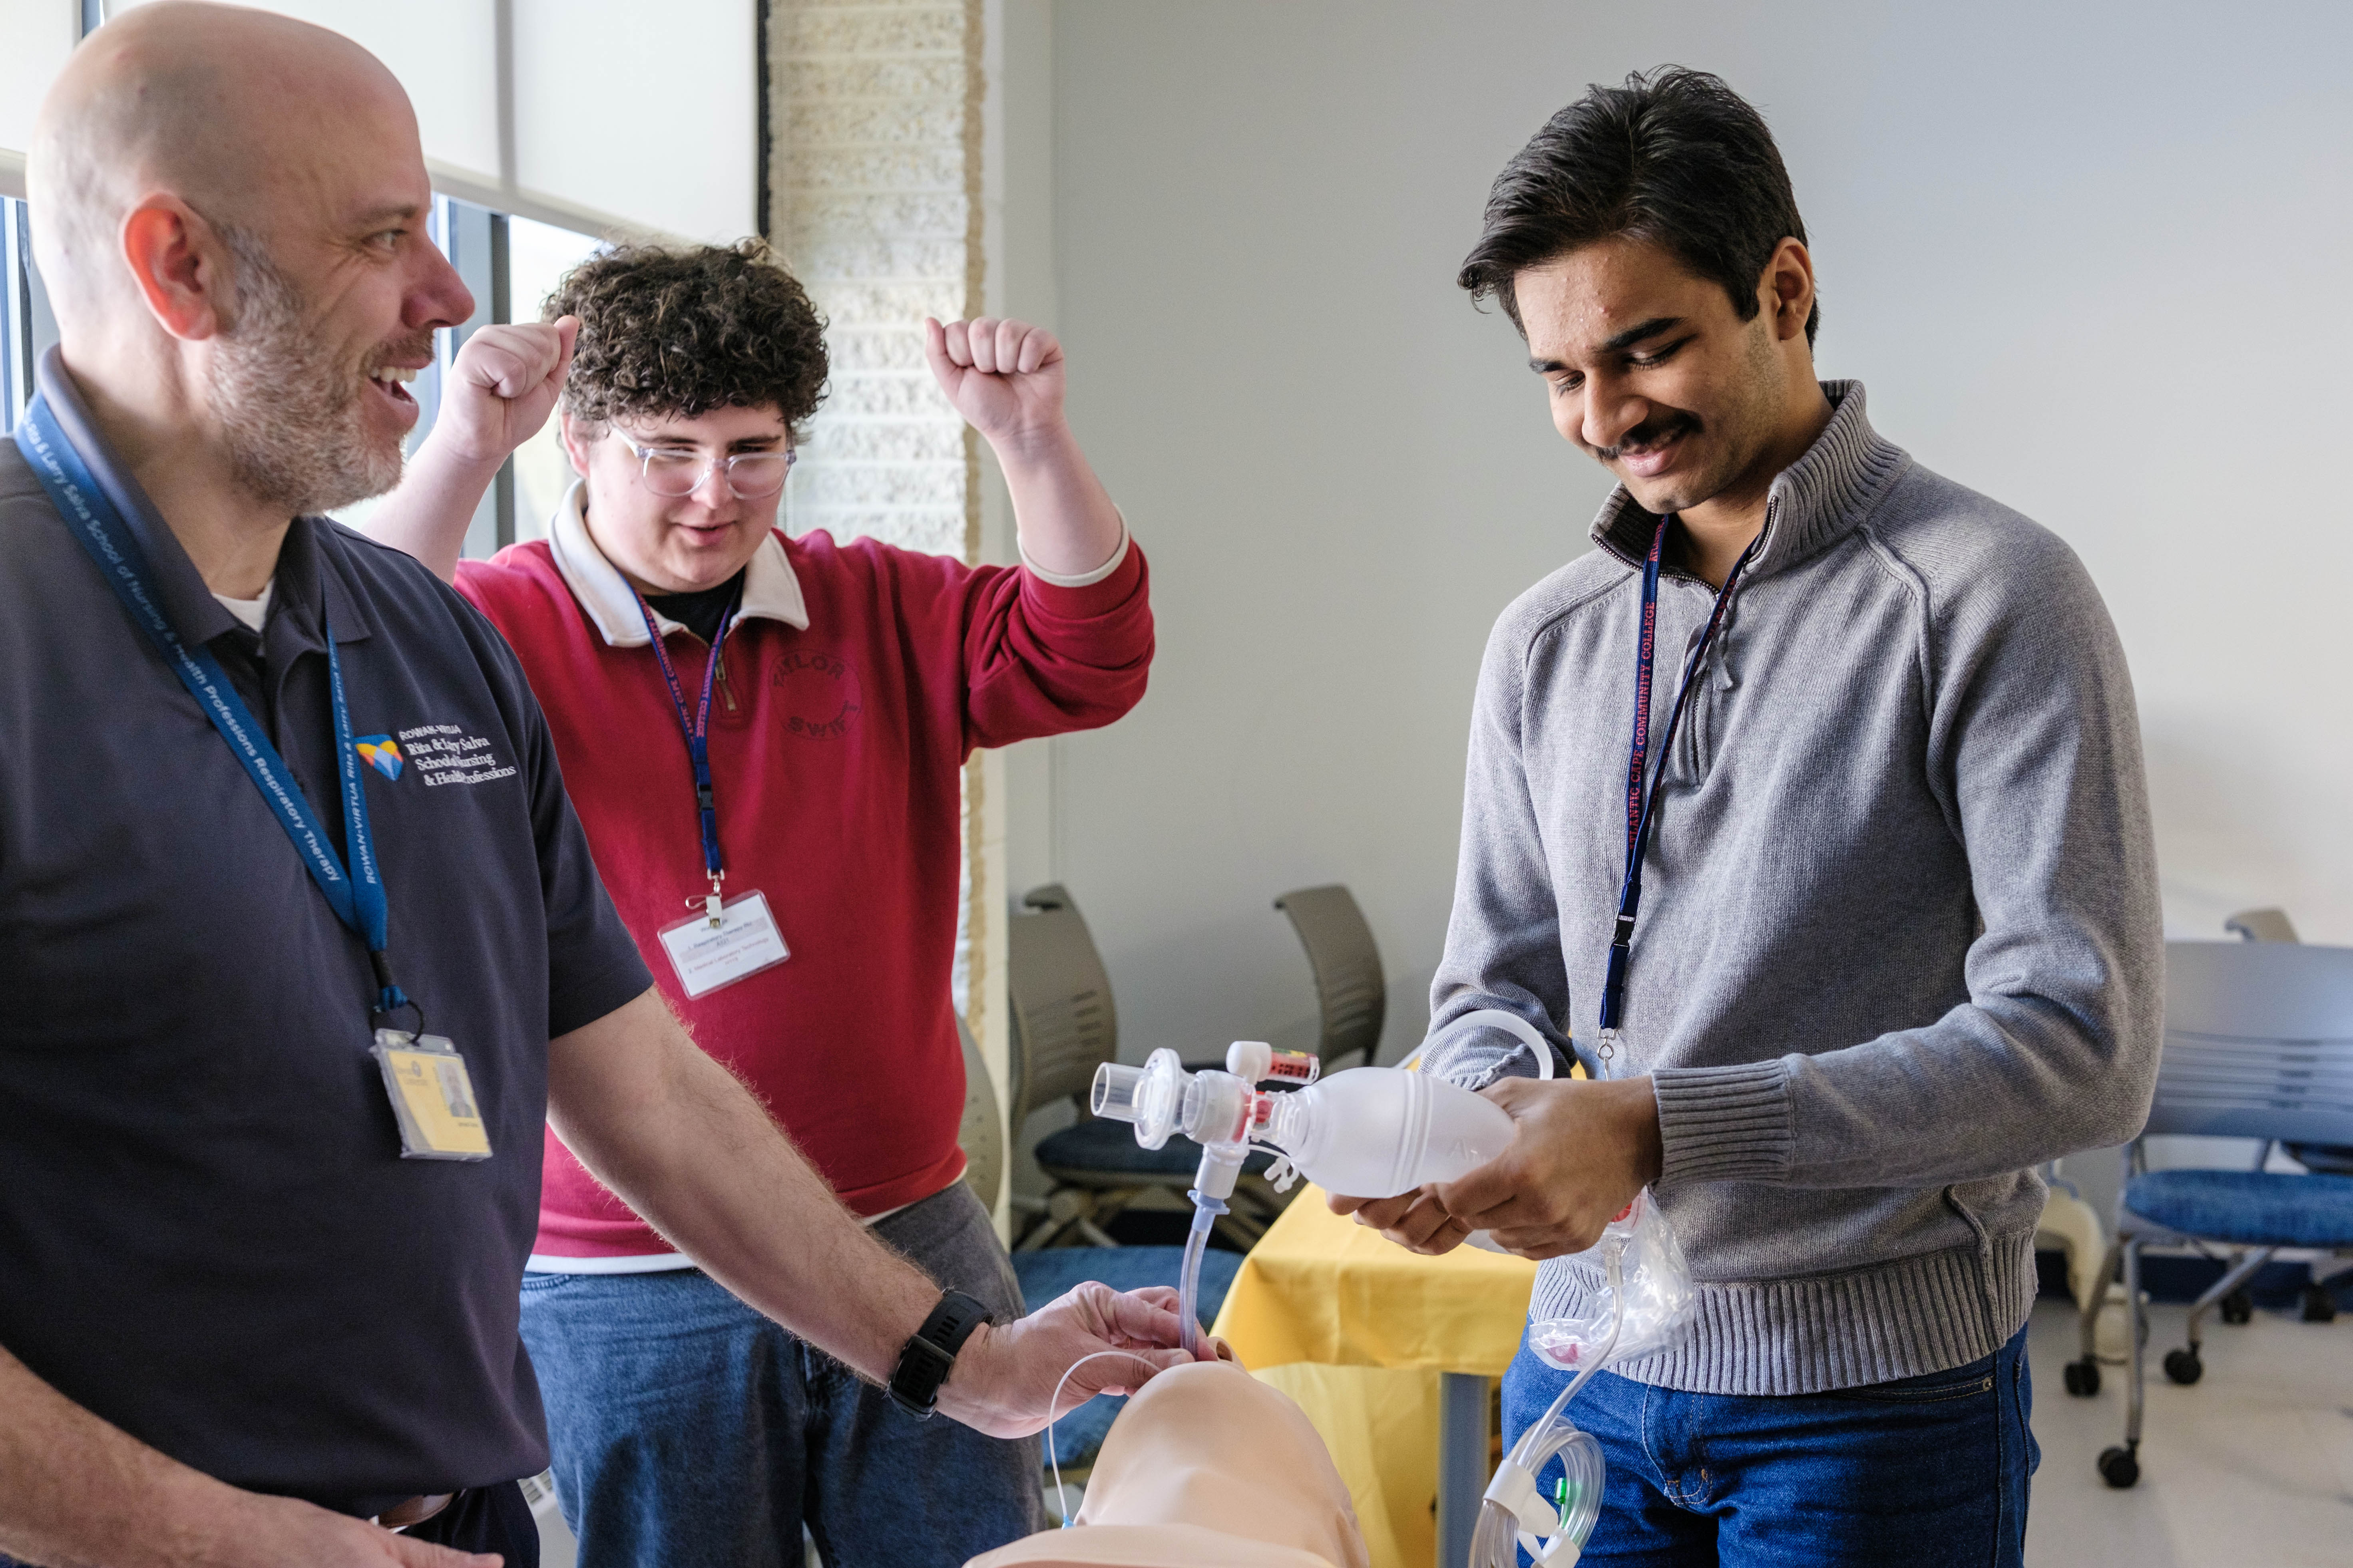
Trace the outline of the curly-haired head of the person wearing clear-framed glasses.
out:
M 718 588 L 776 527 L 776 458 L 824 397 L 826 324 L 760 240 L 605 252 L 548 299 L 544 317 L 565 315 L 581 322 L 562 437 L 588 534 L 642 592 Z M 758 461 L 729 480 L 734 456 Z M 701 482 L 661 494 L 664 468 Z

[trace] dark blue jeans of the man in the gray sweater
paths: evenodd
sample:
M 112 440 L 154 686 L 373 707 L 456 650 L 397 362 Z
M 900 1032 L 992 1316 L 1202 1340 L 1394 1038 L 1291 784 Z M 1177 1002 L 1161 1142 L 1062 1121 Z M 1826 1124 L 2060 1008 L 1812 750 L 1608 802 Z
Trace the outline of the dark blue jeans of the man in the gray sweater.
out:
M 1504 1373 L 1504 1441 L 1560 1394 L 1527 1345 Z M 1678 1394 L 1600 1373 L 1569 1420 L 1609 1460 L 1581 1563 L 2019 1568 L 2042 1450 L 2026 1331 L 1925 1378 L 1835 1394 Z M 1546 1497 L 1560 1462 L 1537 1479 Z

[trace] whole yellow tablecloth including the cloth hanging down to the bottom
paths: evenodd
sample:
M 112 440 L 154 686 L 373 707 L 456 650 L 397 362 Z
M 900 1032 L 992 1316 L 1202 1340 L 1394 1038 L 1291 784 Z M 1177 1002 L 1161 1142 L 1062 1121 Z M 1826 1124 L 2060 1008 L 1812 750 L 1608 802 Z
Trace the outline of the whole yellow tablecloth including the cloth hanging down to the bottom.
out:
M 1537 1265 L 1419 1258 L 1308 1187 L 1242 1258 L 1217 1333 L 1306 1410 L 1348 1483 L 1372 1568 L 1438 1552 L 1438 1375 L 1501 1378 Z

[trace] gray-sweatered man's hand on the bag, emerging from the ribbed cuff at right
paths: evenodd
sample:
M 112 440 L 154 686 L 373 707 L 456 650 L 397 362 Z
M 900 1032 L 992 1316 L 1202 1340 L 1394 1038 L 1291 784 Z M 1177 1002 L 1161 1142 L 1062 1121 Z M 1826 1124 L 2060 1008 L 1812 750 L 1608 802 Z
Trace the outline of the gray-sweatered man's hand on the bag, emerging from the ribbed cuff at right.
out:
M 1511 1112 L 1511 1147 L 1438 1187 L 1457 1225 L 1520 1258 L 1565 1258 L 1659 1180 L 1659 1103 L 1649 1079 L 1504 1079 L 1485 1091 Z

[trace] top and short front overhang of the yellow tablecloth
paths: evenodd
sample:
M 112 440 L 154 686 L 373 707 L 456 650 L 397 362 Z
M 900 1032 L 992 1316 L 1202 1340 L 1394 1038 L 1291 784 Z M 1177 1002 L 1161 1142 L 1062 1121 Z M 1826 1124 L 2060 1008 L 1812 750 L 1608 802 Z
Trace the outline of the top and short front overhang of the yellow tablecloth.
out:
M 1320 1361 L 1501 1378 L 1537 1265 L 1475 1246 L 1407 1253 L 1308 1187 L 1242 1258 L 1217 1314 L 1242 1366 Z

